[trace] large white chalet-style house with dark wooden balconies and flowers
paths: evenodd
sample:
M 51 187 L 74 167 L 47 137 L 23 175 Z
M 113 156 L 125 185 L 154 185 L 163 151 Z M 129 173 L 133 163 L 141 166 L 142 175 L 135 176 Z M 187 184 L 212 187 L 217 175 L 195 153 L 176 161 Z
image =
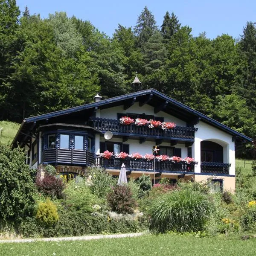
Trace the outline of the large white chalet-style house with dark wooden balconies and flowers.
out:
M 121 123 L 122 117 L 133 122 Z M 76 176 L 98 165 L 118 176 L 125 163 L 128 177 L 135 179 L 145 173 L 153 183 L 162 177 L 174 183 L 209 180 L 213 189 L 234 191 L 239 141 L 252 139 L 148 89 L 104 100 L 97 94 L 93 103 L 26 118 L 12 144 L 24 147 L 27 163 L 38 170 L 52 164 L 59 173 Z M 107 150 L 117 157 L 101 154 Z

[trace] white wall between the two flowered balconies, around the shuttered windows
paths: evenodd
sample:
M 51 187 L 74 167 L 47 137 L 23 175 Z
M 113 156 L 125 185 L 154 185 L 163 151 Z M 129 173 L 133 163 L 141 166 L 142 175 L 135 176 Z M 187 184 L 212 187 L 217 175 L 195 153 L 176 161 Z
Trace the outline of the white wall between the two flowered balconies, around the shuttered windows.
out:
M 101 142 L 105 142 L 105 138 L 104 137 L 100 137 L 100 141 Z M 113 138 L 110 140 L 110 142 L 121 142 L 122 143 L 122 139 L 121 138 L 116 138 L 113 136 Z M 139 140 L 127 140 L 124 142 L 124 144 L 129 144 L 129 151 L 130 154 L 133 153 L 139 153 L 142 155 L 145 154 L 152 154 L 152 148 L 156 145 L 156 143 L 154 141 L 145 141 L 144 143 L 140 144 Z M 159 146 L 170 146 L 170 143 L 162 143 Z M 187 157 L 187 148 L 185 147 L 184 144 L 177 144 L 175 145 L 175 148 L 181 148 L 181 157 Z M 101 152 L 102 153 L 102 152 Z M 97 153 L 96 153 L 97 154 Z

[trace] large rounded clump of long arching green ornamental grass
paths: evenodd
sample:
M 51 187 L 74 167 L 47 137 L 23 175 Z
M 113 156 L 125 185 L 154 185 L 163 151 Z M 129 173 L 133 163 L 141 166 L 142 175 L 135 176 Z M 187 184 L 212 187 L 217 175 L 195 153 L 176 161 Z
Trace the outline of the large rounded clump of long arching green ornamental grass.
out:
M 164 194 L 151 204 L 150 229 L 191 232 L 203 230 L 209 218 L 211 204 L 207 195 L 192 189 L 181 189 Z

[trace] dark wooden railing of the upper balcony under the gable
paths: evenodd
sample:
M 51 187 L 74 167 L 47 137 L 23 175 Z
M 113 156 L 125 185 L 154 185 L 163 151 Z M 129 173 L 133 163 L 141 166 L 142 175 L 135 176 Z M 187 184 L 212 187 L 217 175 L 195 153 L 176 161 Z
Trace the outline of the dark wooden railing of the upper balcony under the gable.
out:
M 198 128 L 176 126 L 175 128 L 163 130 L 161 128 L 149 128 L 148 126 L 121 125 L 119 120 L 92 118 L 89 125 L 98 131 L 105 133 L 111 131 L 115 135 L 156 137 L 158 139 L 194 141 L 195 131 Z

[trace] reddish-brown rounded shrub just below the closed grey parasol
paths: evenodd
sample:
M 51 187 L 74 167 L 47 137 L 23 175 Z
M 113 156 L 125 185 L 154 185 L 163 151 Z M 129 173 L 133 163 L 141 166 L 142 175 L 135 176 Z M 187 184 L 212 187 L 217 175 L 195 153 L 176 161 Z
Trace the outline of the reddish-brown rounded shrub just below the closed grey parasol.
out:
M 107 195 L 107 201 L 112 211 L 118 213 L 133 213 L 137 206 L 128 186 L 114 186 Z

